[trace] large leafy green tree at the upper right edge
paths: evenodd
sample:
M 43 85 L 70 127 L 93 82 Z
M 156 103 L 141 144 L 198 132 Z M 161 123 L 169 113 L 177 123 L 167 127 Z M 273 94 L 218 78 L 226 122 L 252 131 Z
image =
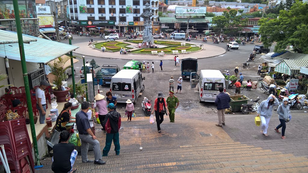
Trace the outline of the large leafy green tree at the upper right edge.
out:
M 289 10 L 280 10 L 279 18 L 259 20 L 264 46 L 277 42 L 274 51 L 282 52 L 292 45 L 297 53 L 308 54 L 308 4 L 296 0 Z

